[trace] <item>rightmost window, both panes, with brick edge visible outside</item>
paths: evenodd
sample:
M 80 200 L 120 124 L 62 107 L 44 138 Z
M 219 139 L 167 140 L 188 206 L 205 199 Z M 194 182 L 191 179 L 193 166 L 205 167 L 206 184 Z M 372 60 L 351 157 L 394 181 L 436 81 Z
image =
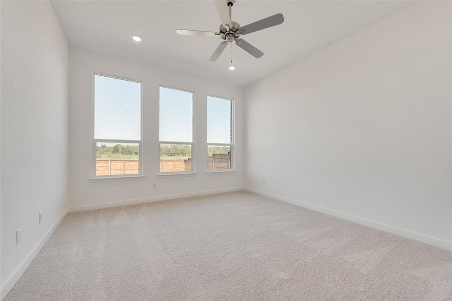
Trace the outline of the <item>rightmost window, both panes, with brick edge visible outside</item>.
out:
M 233 101 L 207 96 L 207 170 L 232 170 Z

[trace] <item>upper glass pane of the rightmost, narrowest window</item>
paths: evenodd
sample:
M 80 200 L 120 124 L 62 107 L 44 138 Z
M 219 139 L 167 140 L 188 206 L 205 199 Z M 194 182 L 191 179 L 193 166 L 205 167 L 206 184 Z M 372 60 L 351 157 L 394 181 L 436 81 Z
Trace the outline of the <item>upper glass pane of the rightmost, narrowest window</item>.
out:
M 232 101 L 207 96 L 207 143 L 232 143 Z

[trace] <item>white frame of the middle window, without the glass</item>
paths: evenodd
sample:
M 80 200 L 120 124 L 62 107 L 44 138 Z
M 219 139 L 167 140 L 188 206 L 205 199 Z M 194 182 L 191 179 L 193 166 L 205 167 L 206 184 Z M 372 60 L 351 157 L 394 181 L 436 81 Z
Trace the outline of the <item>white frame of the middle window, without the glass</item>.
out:
M 191 93 L 191 97 L 192 97 L 192 116 L 191 116 L 191 142 L 182 142 L 182 141 L 162 141 L 160 140 L 160 88 L 166 88 L 166 89 L 173 89 L 173 90 L 178 90 L 178 91 L 183 91 L 183 92 L 188 92 Z M 159 85 L 159 152 L 158 152 L 158 171 L 157 171 L 157 176 L 171 176 L 171 175 L 191 175 L 191 174 L 196 174 L 195 171 L 195 101 L 196 101 L 196 97 L 195 97 L 195 91 L 191 91 L 191 90 L 186 90 L 186 89 L 180 89 L 180 88 L 175 88 L 175 87 L 171 87 L 171 86 L 166 86 L 166 85 Z M 179 145 L 191 145 L 191 170 L 189 172 L 168 172 L 168 173 L 162 173 L 160 171 L 160 152 L 161 152 L 161 146 L 162 144 L 179 144 Z

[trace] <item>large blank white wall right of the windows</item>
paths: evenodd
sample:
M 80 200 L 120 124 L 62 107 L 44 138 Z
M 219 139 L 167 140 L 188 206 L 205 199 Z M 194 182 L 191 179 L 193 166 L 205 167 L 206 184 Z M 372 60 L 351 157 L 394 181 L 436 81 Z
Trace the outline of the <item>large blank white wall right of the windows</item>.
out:
M 247 186 L 452 246 L 450 5 L 414 4 L 247 87 Z

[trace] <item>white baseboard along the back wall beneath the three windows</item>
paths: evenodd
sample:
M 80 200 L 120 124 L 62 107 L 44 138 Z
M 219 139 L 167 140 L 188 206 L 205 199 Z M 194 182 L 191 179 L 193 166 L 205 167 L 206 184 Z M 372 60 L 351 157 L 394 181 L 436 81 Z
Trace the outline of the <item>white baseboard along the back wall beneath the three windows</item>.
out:
M 107 202 L 107 203 L 92 204 L 92 205 L 75 206 L 75 207 L 70 207 L 69 212 L 86 211 L 86 210 L 142 204 L 142 203 L 149 203 L 149 202 L 159 202 L 159 201 L 165 201 L 165 200 L 173 200 L 173 199 L 210 195 L 210 194 L 223 193 L 223 192 L 239 191 L 239 190 L 244 190 L 244 188 L 243 187 L 235 187 L 235 188 L 225 188 L 225 189 L 204 190 L 204 191 L 195 191 L 195 192 L 189 192 L 189 193 L 179 193 L 179 194 L 173 194 L 173 195 L 142 198 L 142 199 L 133 199 L 133 200 Z

